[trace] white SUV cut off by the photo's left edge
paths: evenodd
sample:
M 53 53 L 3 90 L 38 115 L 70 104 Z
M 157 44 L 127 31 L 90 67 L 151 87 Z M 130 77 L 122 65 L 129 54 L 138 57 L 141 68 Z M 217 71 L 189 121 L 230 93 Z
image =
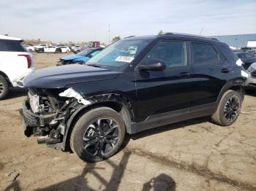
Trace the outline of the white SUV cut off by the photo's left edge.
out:
M 31 53 L 21 42 L 0 35 L 0 100 L 7 96 L 10 87 L 23 87 L 23 78 L 34 70 Z

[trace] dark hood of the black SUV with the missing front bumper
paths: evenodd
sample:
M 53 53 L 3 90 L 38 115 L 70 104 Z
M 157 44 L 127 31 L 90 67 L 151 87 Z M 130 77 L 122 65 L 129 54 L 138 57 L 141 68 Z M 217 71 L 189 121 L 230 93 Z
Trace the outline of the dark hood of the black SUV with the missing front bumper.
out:
M 35 70 L 24 80 L 24 87 L 61 88 L 66 85 L 113 79 L 119 72 L 72 64 Z

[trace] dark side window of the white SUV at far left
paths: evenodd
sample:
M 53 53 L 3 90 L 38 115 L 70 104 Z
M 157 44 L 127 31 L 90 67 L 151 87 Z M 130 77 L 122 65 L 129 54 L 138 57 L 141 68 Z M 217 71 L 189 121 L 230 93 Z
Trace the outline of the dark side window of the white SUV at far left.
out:
M 18 40 L 0 39 L 0 51 L 7 52 L 27 52 Z

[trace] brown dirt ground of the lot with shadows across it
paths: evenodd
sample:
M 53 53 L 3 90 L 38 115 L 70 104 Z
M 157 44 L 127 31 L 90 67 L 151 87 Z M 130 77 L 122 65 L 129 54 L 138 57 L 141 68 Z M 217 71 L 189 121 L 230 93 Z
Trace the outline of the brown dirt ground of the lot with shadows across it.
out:
M 34 54 L 35 68 L 64 55 Z M 0 190 L 256 190 L 256 94 L 246 94 L 230 127 L 203 117 L 147 130 L 100 163 L 27 139 L 18 114 L 25 96 L 18 89 L 0 101 Z

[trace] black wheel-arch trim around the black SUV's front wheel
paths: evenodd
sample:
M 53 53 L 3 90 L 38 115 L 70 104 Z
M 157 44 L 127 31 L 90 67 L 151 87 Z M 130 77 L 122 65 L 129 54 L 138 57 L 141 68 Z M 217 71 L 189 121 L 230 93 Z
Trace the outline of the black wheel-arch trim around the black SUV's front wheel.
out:
M 91 101 L 91 104 L 83 105 L 79 104 L 78 108 L 73 112 L 69 119 L 67 120 L 67 127 L 64 133 L 63 141 L 62 141 L 62 150 L 67 149 L 69 136 L 72 132 L 72 128 L 75 125 L 75 122 L 87 112 L 89 109 L 93 108 L 94 106 L 109 106 L 111 103 L 116 103 L 122 106 L 121 111 L 119 114 L 122 115 L 124 118 L 124 123 L 127 128 L 127 133 L 132 133 L 131 124 L 135 122 L 135 114 L 134 110 L 132 109 L 132 104 L 130 103 L 129 99 L 125 95 L 117 94 L 117 93 L 107 93 L 102 95 L 93 95 L 86 100 Z M 111 106 L 110 106 L 111 107 Z

